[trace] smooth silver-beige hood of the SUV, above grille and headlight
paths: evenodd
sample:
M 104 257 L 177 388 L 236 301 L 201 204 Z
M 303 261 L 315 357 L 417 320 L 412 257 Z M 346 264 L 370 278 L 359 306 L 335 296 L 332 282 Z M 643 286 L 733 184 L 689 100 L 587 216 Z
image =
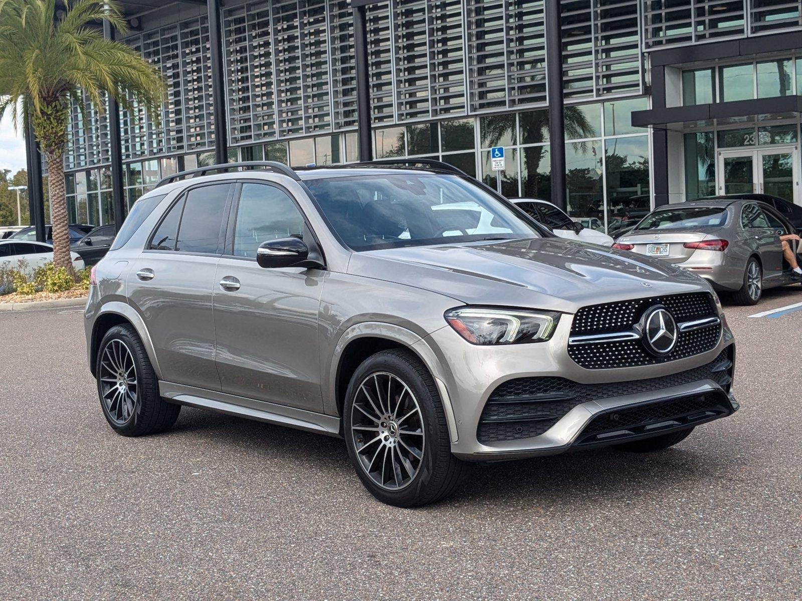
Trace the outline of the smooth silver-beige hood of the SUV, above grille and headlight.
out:
M 348 272 L 468 305 L 565 313 L 615 300 L 710 290 L 702 278 L 674 265 L 561 238 L 354 252 Z

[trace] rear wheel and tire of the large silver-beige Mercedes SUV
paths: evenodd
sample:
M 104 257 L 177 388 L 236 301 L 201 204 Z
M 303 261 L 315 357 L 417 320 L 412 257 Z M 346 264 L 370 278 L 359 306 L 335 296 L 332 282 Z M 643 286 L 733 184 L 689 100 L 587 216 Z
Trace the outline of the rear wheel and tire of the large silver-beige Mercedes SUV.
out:
M 159 379 L 132 326 L 115 325 L 103 336 L 95 374 L 103 415 L 117 434 L 155 434 L 176 423 L 181 406 L 159 396 Z

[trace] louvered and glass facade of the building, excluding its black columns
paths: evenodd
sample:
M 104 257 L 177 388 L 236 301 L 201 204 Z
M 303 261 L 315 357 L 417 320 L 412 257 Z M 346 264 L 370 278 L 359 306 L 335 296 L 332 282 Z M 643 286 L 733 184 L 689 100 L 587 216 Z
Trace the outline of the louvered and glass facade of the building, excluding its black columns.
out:
M 569 214 L 613 231 L 651 206 L 649 50 L 802 26 L 802 2 L 566 0 L 562 81 Z M 124 41 L 164 73 L 160 115 L 122 111 L 126 207 L 165 175 L 214 162 L 209 22 L 203 9 L 144 18 Z M 367 9 L 376 158 L 439 159 L 506 196 L 549 198 L 544 0 L 386 0 Z M 201 14 L 198 14 L 201 13 Z M 358 160 L 350 0 L 232 0 L 221 11 L 229 160 L 294 167 Z M 678 102 L 802 93 L 802 56 L 687 65 Z M 158 119 L 156 119 L 158 117 Z M 771 123 L 761 123 L 767 118 Z M 73 107 L 65 168 L 71 219 L 113 220 L 108 121 Z M 714 193 L 720 148 L 796 143 L 798 119 L 683 128 L 683 193 Z M 503 146 L 503 171 L 489 150 Z M 719 174 L 720 175 L 720 174 Z

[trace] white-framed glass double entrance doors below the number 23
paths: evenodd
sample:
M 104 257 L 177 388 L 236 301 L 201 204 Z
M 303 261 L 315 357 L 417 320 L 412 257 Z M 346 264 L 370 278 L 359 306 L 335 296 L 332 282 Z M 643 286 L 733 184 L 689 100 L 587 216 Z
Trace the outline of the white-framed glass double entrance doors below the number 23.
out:
M 796 145 L 719 151 L 719 194 L 770 194 L 802 204 L 799 160 Z

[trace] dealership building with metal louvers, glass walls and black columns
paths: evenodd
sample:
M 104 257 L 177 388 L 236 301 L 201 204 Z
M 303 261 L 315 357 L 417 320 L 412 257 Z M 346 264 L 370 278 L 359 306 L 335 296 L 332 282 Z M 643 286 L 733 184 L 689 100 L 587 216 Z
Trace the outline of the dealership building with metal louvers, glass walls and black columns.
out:
M 74 222 L 114 223 L 161 177 L 221 160 L 371 155 L 439 159 L 508 197 L 554 193 L 599 229 L 717 193 L 802 203 L 802 2 L 123 6 L 117 37 L 164 73 L 167 100 L 160 119 L 74 108 Z M 35 158 L 29 144 L 33 204 Z

